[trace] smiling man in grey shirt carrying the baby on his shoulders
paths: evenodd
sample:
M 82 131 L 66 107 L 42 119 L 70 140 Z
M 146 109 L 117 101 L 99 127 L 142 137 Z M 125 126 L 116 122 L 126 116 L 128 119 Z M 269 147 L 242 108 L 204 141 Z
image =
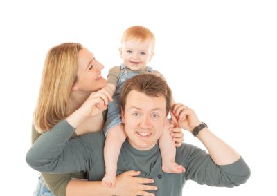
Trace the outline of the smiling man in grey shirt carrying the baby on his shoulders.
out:
M 155 195 L 182 195 L 187 179 L 208 186 L 227 187 L 246 182 L 250 170 L 242 157 L 213 135 L 195 112 L 183 104 L 172 107 L 172 123 L 193 133 L 210 154 L 196 146 L 182 144 L 177 148 L 175 161 L 183 165 L 186 172 L 163 173 L 157 141 L 167 126 L 170 99 L 171 91 L 166 82 L 151 74 L 132 77 L 123 86 L 120 101 L 127 139 L 120 151 L 117 174 L 139 170 L 141 177 L 154 179 L 154 185 L 159 188 L 154 191 Z M 89 113 L 97 110 L 90 108 Z M 98 132 L 70 139 L 76 126 L 74 119 L 69 116 L 39 137 L 28 151 L 26 161 L 44 173 L 84 170 L 89 180 L 101 180 L 105 175 L 105 137 Z

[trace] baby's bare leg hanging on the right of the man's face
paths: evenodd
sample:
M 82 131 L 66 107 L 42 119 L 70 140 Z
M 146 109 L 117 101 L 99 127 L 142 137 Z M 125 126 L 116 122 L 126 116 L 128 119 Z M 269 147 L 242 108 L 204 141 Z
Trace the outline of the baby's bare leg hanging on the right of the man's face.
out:
M 165 173 L 183 173 L 185 168 L 175 162 L 176 147 L 175 141 L 172 140 L 169 126 L 163 130 L 163 134 L 159 139 L 159 147 L 161 150 L 162 170 Z

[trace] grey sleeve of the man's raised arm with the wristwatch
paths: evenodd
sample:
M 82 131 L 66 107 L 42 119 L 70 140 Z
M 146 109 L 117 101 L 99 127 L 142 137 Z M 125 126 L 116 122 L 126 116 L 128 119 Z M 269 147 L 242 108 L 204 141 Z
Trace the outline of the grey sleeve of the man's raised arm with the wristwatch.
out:
M 198 184 L 233 187 L 244 184 L 250 176 L 250 169 L 242 157 L 232 164 L 219 166 L 206 151 L 196 146 L 183 144 L 177 151 L 183 159 L 179 161 L 186 168 L 185 179 Z

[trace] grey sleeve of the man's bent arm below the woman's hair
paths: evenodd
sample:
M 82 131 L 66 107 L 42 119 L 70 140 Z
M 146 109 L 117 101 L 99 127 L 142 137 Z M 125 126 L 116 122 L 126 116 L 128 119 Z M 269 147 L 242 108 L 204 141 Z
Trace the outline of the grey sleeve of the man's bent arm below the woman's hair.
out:
M 70 139 L 75 128 L 66 120 L 60 121 L 51 131 L 42 134 L 26 155 L 27 163 L 44 173 L 74 173 L 87 171 L 93 165 L 105 139 L 102 132 L 88 133 Z M 102 139 L 100 139 L 102 137 Z

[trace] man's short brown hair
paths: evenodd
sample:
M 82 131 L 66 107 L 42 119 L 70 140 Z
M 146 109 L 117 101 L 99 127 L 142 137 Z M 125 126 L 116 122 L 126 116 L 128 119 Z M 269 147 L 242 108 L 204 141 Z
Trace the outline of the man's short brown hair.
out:
M 125 110 L 127 95 L 131 90 L 142 92 L 150 97 L 165 97 L 166 114 L 170 111 L 172 93 L 166 81 L 161 77 L 153 74 L 142 74 L 128 79 L 120 93 L 120 104 L 123 111 Z

